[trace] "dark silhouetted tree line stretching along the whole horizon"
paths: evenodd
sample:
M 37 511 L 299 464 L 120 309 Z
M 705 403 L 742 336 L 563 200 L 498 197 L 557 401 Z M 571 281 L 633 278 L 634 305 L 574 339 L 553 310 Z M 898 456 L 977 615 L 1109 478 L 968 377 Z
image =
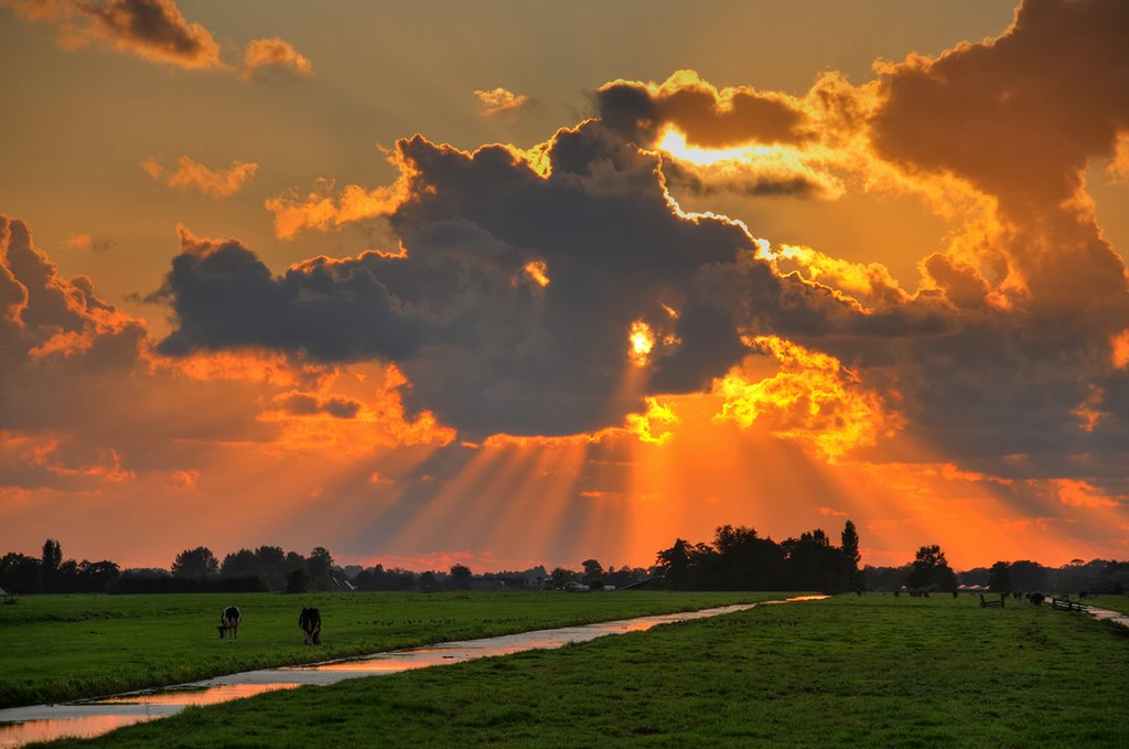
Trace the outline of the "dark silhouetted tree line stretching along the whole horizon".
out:
M 441 591 L 471 589 L 562 589 L 580 583 L 592 590 L 628 587 L 646 582 L 671 590 L 895 591 L 904 589 L 947 592 L 961 584 L 984 585 L 990 591 L 1058 591 L 1124 593 L 1129 591 L 1129 561 L 1074 559 L 1052 568 L 1035 561 L 997 561 L 955 573 L 939 546 L 922 546 L 912 561 L 900 567 L 859 569 L 859 537 L 847 521 L 839 546 L 815 529 L 776 542 L 754 529 L 723 525 L 710 542 L 675 539 L 656 554 L 649 568 L 604 567 L 585 559 L 577 571 L 543 565 L 520 572 L 474 574 L 462 564 L 447 572 L 412 572 L 338 566 L 330 551 L 314 548 L 308 555 L 277 546 L 239 549 L 220 560 L 211 549 L 196 547 L 176 555 L 169 569 L 121 569 L 111 560 L 63 559 L 55 539 L 43 543 L 38 558 L 19 552 L 0 557 L 0 587 L 10 593 L 204 593 L 306 591 Z

